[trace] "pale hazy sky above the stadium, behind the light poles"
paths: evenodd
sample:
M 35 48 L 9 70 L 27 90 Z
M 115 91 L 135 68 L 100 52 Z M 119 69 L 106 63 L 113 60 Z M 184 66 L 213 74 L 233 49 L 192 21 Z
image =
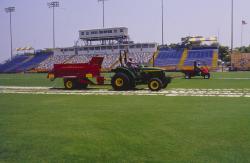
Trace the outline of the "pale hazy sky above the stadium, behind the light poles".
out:
M 56 46 L 73 46 L 80 29 L 102 28 L 102 3 L 98 0 L 58 0 L 55 11 Z M 32 46 L 50 48 L 52 9 L 50 0 L 0 0 L 0 63 L 10 58 L 9 15 L 4 8 L 15 6 L 12 15 L 13 49 Z M 235 0 L 234 45 L 250 44 L 250 1 Z M 178 43 L 188 35 L 218 36 L 230 45 L 231 0 L 164 0 L 164 42 Z M 135 42 L 161 43 L 161 0 L 107 0 L 105 27 L 128 27 Z

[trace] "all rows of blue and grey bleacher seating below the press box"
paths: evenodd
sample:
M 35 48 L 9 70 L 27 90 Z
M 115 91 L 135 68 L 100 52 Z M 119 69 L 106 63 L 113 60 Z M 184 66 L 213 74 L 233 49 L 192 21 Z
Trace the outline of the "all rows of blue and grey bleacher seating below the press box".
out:
M 183 67 L 193 66 L 194 61 L 200 61 L 201 66 L 216 65 L 214 52 L 216 49 L 160 49 L 155 58 L 155 66 L 164 67 L 169 70 L 180 70 Z M 128 58 L 132 58 L 133 62 L 138 64 L 149 65 L 153 58 L 153 52 L 130 52 Z M 96 54 L 78 54 L 78 55 L 53 55 L 53 52 L 39 52 L 35 55 L 24 54 L 17 55 L 12 60 L 9 60 L 0 65 L 1 73 L 9 72 L 46 72 L 52 70 L 54 64 L 62 63 L 87 63 Z M 119 53 L 98 54 L 103 56 L 102 68 L 110 69 L 119 65 Z M 214 64 L 215 63 L 215 64 Z

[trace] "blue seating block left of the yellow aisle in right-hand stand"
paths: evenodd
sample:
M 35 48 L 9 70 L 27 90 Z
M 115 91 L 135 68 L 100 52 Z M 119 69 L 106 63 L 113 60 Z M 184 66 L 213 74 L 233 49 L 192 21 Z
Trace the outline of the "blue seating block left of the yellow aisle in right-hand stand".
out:
M 157 58 L 155 59 L 155 66 L 175 66 L 178 65 L 183 54 L 183 49 L 170 49 L 160 50 Z

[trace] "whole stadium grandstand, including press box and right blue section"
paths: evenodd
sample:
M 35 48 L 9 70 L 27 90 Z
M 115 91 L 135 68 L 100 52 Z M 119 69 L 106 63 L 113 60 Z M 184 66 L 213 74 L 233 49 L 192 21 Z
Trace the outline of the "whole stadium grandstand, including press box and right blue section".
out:
M 194 61 L 201 61 L 215 70 L 218 46 L 203 45 L 211 41 L 215 42 L 216 38 L 185 37 L 179 46 L 169 48 L 158 47 L 156 43 L 134 43 L 129 40 L 125 27 L 80 30 L 75 46 L 19 53 L 0 65 L 0 72 L 48 72 L 54 64 L 86 63 L 94 56 L 104 57 L 102 68 L 110 70 L 119 65 L 120 50 L 128 50 L 128 57 L 138 64 L 154 65 L 169 71 L 190 69 Z

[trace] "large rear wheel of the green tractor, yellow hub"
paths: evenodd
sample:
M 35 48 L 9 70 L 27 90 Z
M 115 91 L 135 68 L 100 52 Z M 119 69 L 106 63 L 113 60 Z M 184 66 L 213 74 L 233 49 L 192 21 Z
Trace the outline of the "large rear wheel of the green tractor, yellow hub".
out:
M 114 90 L 124 91 L 130 88 L 129 78 L 124 73 L 117 73 L 112 77 L 111 84 Z

